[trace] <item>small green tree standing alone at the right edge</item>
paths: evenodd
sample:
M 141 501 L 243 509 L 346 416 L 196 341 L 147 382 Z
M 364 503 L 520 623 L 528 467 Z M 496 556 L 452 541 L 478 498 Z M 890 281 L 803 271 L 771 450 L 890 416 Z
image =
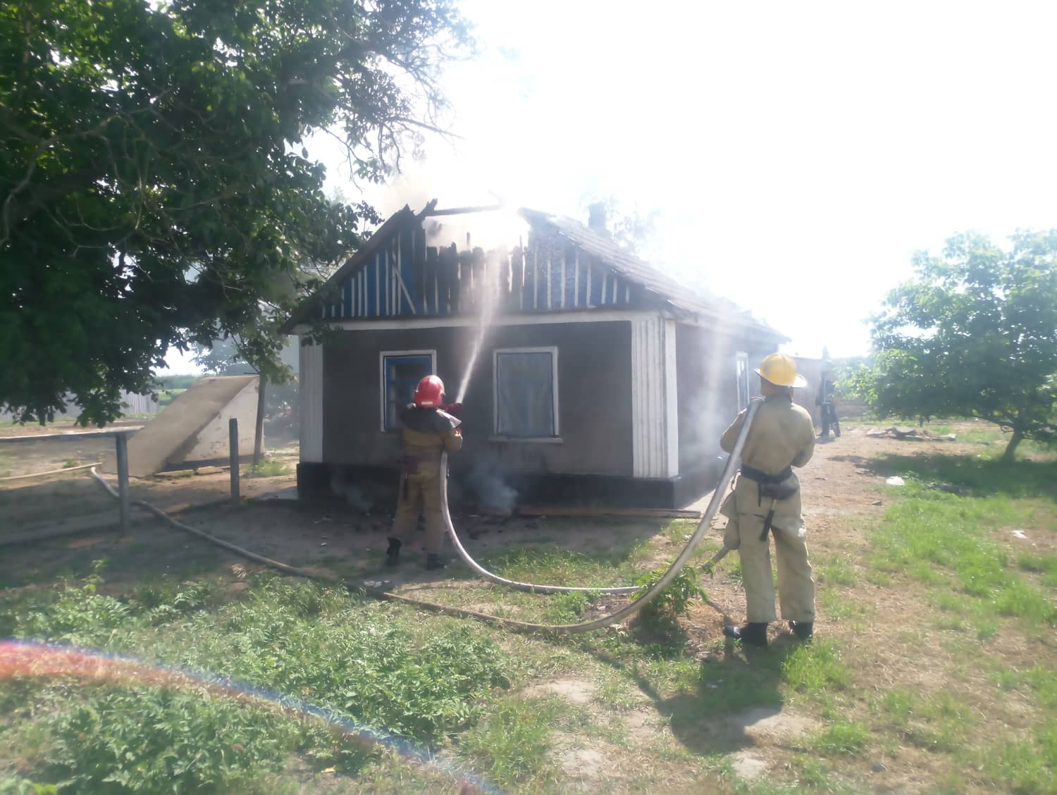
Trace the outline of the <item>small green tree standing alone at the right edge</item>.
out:
M 882 415 L 976 417 L 1024 439 L 1057 437 L 1057 230 L 1023 232 L 1005 252 L 959 235 L 873 318 L 872 370 L 856 387 Z

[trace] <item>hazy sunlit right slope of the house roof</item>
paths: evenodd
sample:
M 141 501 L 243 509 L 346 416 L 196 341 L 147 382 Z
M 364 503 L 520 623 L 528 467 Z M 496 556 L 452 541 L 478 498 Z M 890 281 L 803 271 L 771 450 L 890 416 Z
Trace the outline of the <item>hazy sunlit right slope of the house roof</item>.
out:
M 624 278 L 642 285 L 644 290 L 668 303 L 672 309 L 691 315 L 707 315 L 734 319 L 745 326 L 772 334 L 783 340 L 789 337 L 772 328 L 769 325 L 753 316 L 748 310 L 741 309 L 733 301 L 718 296 L 702 297 L 694 291 L 684 286 L 670 276 L 656 270 L 648 262 L 616 243 L 608 235 L 599 233 L 579 221 L 565 216 L 555 216 L 536 209 L 522 207 L 518 214 L 533 227 L 541 230 L 550 229 L 557 233 L 571 243 L 597 257 Z

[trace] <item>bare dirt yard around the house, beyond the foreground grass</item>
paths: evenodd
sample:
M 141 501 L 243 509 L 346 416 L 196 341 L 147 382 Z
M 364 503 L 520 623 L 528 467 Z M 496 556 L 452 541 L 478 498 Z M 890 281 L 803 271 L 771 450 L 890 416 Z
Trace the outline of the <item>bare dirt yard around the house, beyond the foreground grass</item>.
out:
M 972 426 L 971 423 L 965 425 Z M 834 551 L 863 543 L 858 526 L 880 514 L 884 489 L 891 488 L 885 485 L 885 478 L 894 474 L 871 468 L 870 457 L 884 452 L 973 454 L 980 449 L 958 442 L 875 439 L 866 436 L 870 429 L 869 426 L 849 425 L 839 440 L 819 444 L 813 460 L 800 470 L 804 517 L 812 546 L 817 540 L 827 551 Z M 110 439 L 26 444 L 25 458 L 19 459 L 18 466 L 40 470 L 40 467 L 61 466 L 63 460 L 75 457 L 91 460 L 93 454 L 98 455 L 110 444 Z M 22 444 L 11 446 L 18 447 L 21 456 Z M 36 449 L 38 446 L 43 449 Z M 278 460 L 290 464 L 290 473 L 270 478 L 244 478 L 241 482 L 243 497 L 263 497 L 291 488 L 295 455 L 293 448 L 276 451 Z M 110 481 L 113 482 L 113 478 Z M 397 574 L 381 567 L 385 534 L 391 521 L 388 514 L 365 515 L 341 503 L 298 505 L 284 500 L 251 503 L 231 510 L 217 504 L 229 495 L 226 470 L 192 477 L 132 479 L 131 495 L 133 500 L 146 500 L 170 513 L 188 512 L 182 521 L 294 566 L 309 566 L 350 578 L 382 573 L 394 588 L 404 583 L 421 585 L 438 579 L 414 567 L 403 568 Z M 703 498 L 696 504 L 703 506 L 706 501 Z M 208 507 L 193 510 L 198 505 Z M 0 561 L 0 585 L 38 579 L 44 570 L 69 569 L 76 561 L 84 561 L 88 550 L 98 550 L 100 556 L 112 559 L 128 557 L 130 574 L 136 571 L 135 561 L 141 555 L 171 559 L 167 568 L 187 574 L 229 572 L 230 566 L 239 562 L 234 555 L 191 541 L 138 510 L 134 510 L 132 531 L 120 538 L 116 533 L 116 513 L 113 498 L 84 470 L 45 480 L 0 482 L 0 516 L 3 518 L 0 542 L 5 537 L 34 533 L 85 531 L 27 547 L 6 547 Z M 713 525 L 718 529 L 722 521 L 717 519 Z M 567 549 L 605 552 L 620 549 L 630 540 L 650 539 L 655 549 L 655 562 L 660 565 L 673 558 L 680 550 L 678 541 L 662 533 L 668 524 L 664 519 L 462 516 L 456 518 L 456 524 L 467 550 L 475 556 L 552 542 Z M 711 549 L 718 548 L 719 535 L 719 530 L 710 534 Z M 408 552 L 413 555 L 416 547 L 421 549 L 421 541 L 412 544 Z M 720 565 L 716 577 L 707 583 L 707 590 L 717 606 L 733 617 L 739 617 L 743 606 L 740 584 L 723 575 L 729 570 L 733 558 Z M 18 575 L 20 568 L 25 576 Z M 74 566 L 74 570 L 81 568 L 84 563 Z M 30 571 L 35 572 L 32 577 Z M 696 608 L 691 617 L 690 628 L 694 630 L 691 643 L 706 647 L 715 640 L 718 624 L 712 608 Z M 824 616 L 819 618 L 819 629 L 826 631 Z

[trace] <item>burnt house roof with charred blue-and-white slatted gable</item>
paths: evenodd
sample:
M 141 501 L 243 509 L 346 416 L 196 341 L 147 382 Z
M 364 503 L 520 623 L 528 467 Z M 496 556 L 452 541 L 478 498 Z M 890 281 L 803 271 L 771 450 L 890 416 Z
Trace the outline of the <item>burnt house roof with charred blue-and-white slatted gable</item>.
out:
M 663 309 L 680 316 L 722 318 L 777 333 L 720 298 L 703 298 L 614 243 L 604 232 L 561 216 L 521 209 L 527 241 L 484 251 L 428 245 L 435 216 L 495 207 L 404 207 L 371 236 L 294 315 L 307 320 L 429 318 L 499 313 Z

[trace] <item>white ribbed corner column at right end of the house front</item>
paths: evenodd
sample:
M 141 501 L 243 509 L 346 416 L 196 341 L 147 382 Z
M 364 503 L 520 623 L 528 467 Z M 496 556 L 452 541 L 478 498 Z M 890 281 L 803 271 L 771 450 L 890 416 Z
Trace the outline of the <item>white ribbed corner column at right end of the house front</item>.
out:
M 675 323 L 657 315 L 631 321 L 632 472 L 679 475 Z

